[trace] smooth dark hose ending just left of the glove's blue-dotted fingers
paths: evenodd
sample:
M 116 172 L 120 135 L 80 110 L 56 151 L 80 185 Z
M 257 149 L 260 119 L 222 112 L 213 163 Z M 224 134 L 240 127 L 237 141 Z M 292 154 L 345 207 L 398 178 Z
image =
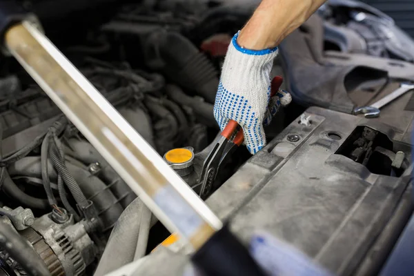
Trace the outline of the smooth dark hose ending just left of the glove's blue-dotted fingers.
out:
M 190 97 L 184 93 L 181 88 L 173 84 L 166 86 L 166 93 L 172 101 L 179 103 L 181 106 L 188 106 L 193 109 L 196 117 L 210 128 L 218 128 L 214 118 L 213 104 L 206 103 L 195 97 Z

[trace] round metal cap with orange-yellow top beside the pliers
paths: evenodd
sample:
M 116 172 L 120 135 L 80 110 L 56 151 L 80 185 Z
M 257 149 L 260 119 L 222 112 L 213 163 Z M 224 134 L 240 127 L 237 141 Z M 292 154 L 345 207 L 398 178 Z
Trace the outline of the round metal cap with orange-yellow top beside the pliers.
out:
M 164 155 L 164 160 L 179 176 L 184 177 L 193 171 L 194 149 L 188 147 L 169 150 Z

